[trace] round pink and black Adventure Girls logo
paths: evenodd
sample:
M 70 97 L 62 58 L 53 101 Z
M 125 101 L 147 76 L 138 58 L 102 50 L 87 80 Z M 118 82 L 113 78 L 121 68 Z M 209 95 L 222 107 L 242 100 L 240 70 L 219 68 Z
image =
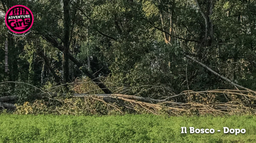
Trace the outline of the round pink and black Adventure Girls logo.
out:
M 29 31 L 34 22 L 32 11 L 26 6 L 17 5 L 11 7 L 5 16 L 7 28 L 17 34 Z

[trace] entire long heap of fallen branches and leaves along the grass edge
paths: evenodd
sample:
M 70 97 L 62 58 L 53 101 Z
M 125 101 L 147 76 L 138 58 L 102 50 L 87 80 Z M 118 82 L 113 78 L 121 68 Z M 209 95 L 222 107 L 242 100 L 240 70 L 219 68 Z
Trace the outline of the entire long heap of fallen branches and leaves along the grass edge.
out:
M 89 82 L 88 82 L 89 83 Z M 60 86 L 58 86 L 60 87 Z M 110 115 L 126 113 L 151 113 L 155 115 L 244 115 L 256 114 L 256 91 L 252 90 L 186 90 L 180 94 L 142 97 L 127 94 L 61 93 L 36 88 L 30 97 L 36 100 L 16 104 L 17 113 L 57 115 Z M 120 88 L 119 88 L 120 89 Z M 79 89 L 81 90 L 81 89 Z M 127 89 L 125 89 L 127 90 Z M 38 93 L 39 91 L 39 93 Z M 84 90 L 81 90 L 84 91 Z M 124 91 L 124 90 L 122 90 Z M 0 108 L 14 108 L 17 95 L 0 97 Z

